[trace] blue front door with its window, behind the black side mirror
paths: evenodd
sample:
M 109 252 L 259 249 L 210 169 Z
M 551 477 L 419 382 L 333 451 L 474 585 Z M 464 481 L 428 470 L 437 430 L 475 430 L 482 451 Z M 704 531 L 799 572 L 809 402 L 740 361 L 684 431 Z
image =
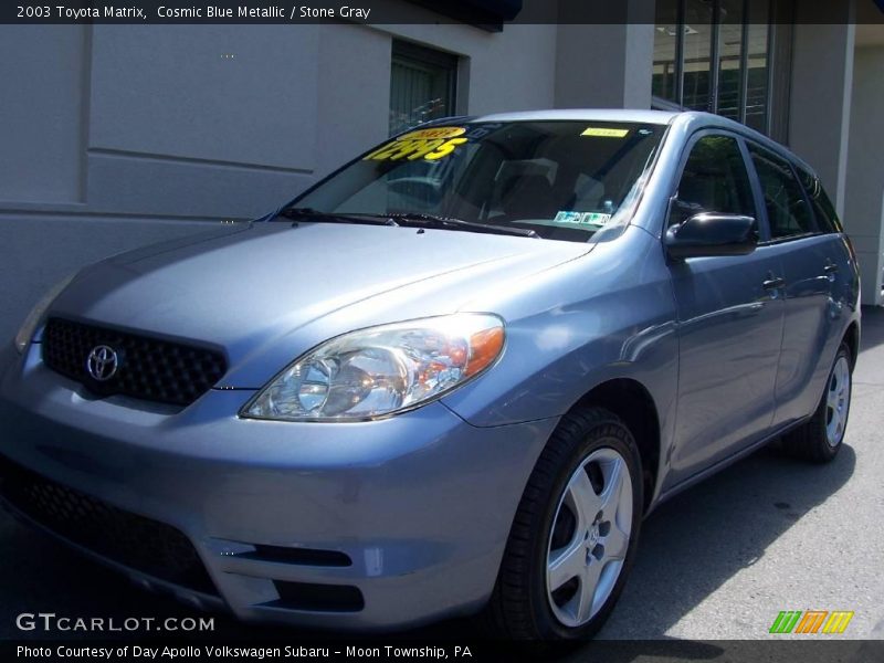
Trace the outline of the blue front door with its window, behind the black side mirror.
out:
M 705 131 L 688 144 L 669 223 L 699 212 L 759 219 L 758 188 L 735 135 Z M 766 239 L 767 229 L 761 229 Z M 678 316 L 678 400 L 672 473 L 690 478 L 765 436 L 775 402 L 785 306 L 780 260 L 748 255 L 670 262 Z

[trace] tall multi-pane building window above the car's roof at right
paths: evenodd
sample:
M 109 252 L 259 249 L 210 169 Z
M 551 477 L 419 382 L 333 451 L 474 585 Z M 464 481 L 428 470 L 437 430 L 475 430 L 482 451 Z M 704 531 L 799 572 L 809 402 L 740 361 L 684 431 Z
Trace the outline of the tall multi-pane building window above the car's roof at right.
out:
M 793 0 L 656 0 L 657 108 L 708 110 L 786 138 Z

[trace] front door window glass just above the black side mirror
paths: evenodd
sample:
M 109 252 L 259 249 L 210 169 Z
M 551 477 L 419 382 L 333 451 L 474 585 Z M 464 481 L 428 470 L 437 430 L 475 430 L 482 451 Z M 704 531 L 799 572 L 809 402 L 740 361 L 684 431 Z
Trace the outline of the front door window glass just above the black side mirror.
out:
M 670 224 L 701 212 L 755 217 L 749 175 L 736 138 L 704 136 L 691 148 Z

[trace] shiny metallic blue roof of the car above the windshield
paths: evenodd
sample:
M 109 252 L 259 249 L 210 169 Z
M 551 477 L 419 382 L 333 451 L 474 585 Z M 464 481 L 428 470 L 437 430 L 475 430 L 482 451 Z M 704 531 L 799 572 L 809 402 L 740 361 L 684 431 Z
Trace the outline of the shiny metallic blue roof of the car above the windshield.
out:
M 432 122 L 428 123 L 428 125 L 450 124 L 455 119 L 459 122 L 634 122 L 661 126 L 677 126 L 682 129 L 682 133 L 685 136 L 690 136 L 696 130 L 706 128 L 727 129 L 762 145 L 764 147 L 779 154 L 781 157 L 791 160 L 797 166 L 800 166 L 813 177 L 817 177 L 817 171 L 786 146 L 736 120 L 723 117 L 722 115 L 704 113 L 701 110 L 558 108 L 547 110 L 518 110 L 513 113 L 492 113 L 487 115 L 443 117 L 433 119 Z

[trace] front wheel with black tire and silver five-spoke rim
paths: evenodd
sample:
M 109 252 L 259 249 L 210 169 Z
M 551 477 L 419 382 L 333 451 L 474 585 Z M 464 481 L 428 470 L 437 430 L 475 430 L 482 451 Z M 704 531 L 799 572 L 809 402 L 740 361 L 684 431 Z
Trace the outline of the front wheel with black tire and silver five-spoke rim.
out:
M 562 418 L 513 522 L 484 613 L 493 635 L 567 642 L 601 628 L 635 556 L 641 477 L 620 418 L 601 408 Z

